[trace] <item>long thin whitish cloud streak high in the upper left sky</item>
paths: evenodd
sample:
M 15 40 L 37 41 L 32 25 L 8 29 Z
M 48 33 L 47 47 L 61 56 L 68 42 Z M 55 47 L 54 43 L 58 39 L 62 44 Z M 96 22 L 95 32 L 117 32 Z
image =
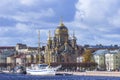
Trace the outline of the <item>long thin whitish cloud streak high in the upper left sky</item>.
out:
M 52 17 L 55 15 L 55 12 L 52 8 L 40 10 L 39 12 L 16 12 L 14 15 L 8 15 L 9 18 L 13 18 L 17 21 L 36 21 L 45 17 Z

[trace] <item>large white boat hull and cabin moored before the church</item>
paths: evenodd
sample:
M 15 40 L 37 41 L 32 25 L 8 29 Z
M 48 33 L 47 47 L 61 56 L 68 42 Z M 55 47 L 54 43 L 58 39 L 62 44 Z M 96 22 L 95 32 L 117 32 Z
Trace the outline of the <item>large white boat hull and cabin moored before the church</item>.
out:
M 26 68 L 27 74 L 30 75 L 55 75 L 56 71 L 61 66 L 57 67 L 50 67 L 47 64 L 38 64 L 38 65 L 32 65 L 30 68 Z

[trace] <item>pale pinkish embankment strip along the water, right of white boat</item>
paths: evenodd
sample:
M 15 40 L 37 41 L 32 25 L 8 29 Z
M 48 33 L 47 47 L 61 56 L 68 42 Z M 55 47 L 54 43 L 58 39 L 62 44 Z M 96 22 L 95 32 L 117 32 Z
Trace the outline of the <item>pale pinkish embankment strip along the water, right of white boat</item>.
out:
M 120 77 L 120 72 L 108 72 L 108 71 L 86 71 L 86 72 L 57 72 L 59 74 L 72 74 L 77 76 L 111 76 Z

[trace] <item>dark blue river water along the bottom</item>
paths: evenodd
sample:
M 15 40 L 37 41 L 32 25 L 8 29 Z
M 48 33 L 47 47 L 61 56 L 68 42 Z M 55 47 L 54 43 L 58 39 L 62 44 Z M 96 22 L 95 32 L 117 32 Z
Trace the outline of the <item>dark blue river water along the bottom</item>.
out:
M 0 80 L 120 80 L 120 77 L 75 76 L 75 75 L 32 76 L 24 74 L 0 73 Z

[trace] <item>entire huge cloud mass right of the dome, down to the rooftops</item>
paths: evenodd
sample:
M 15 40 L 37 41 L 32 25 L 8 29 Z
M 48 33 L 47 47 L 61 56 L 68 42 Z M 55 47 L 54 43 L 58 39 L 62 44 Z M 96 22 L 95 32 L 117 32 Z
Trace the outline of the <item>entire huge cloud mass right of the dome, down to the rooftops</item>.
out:
M 77 35 L 82 39 L 79 42 L 119 44 L 120 32 L 116 32 L 120 27 L 119 3 L 119 0 L 78 0 L 74 23 L 79 26 L 76 30 L 82 35 Z

